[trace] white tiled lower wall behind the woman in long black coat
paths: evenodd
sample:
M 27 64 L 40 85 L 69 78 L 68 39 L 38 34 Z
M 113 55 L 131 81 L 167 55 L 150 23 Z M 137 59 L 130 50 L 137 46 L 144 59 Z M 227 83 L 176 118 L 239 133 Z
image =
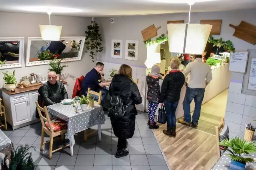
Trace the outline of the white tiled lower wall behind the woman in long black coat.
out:
M 114 68 L 115 70 L 119 70 L 121 64 L 116 64 L 116 63 L 104 63 L 104 74 L 105 79 L 107 80 L 108 78 L 110 78 L 110 72 L 111 69 Z M 140 91 L 140 95 L 142 96 L 142 104 L 136 106 L 136 108 L 140 111 L 144 111 L 145 110 L 145 95 L 146 95 L 146 67 L 142 68 L 142 67 L 132 67 L 132 78 L 135 81 L 137 78 L 139 79 L 138 82 L 138 89 Z

